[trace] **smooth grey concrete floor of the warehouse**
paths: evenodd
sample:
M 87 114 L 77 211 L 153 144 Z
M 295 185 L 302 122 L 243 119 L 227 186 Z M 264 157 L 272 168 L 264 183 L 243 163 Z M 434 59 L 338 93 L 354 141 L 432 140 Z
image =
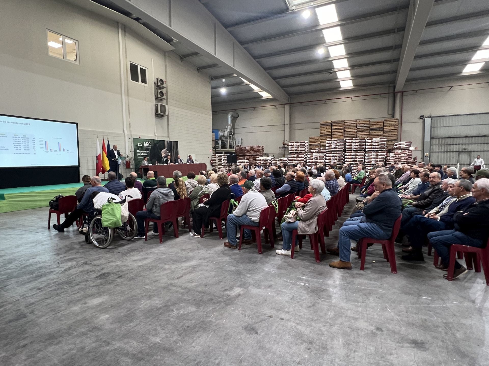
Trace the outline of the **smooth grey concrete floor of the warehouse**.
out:
M 432 257 L 391 274 L 375 245 L 348 271 L 308 241 L 293 260 L 184 230 L 98 249 L 46 225 L 0 215 L 2 366 L 489 364 L 483 274 L 448 282 Z

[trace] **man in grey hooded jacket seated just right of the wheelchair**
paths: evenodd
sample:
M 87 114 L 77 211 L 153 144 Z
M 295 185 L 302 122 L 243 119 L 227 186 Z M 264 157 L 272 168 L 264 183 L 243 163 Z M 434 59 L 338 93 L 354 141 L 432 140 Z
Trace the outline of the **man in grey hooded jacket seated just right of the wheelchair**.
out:
M 146 211 L 138 211 L 136 214 L 137 222 L 137 235 L 136 239 L 144 239 L 145 219 L 159 219 L 160 218 L 160 206 L 168 201 L 173 201 L 175 195 L 170 188 L 166 186 L 166 178 L 160 175 L 156 179 L 157 188 L 151 192 L 150 198 L 146 203 Z M 158 227 L 155 225 L 153 228 L 153 234 L 158 234 Z

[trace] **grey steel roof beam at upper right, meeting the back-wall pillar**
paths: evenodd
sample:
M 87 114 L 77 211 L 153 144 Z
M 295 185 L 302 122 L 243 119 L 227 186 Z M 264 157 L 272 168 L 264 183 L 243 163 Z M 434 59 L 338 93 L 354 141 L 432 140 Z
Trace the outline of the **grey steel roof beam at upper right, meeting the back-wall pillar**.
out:
M 433 3 L 434 0 L 411 0 L 409 3 L 406 30 L 396 76 L 396 91 L 400 91 L 404 87 Z

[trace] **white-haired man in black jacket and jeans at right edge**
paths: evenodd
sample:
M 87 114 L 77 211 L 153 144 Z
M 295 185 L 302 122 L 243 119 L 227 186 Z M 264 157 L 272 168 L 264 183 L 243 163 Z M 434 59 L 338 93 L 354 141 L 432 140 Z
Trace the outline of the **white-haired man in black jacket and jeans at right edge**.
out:
M 482 247 L 489 237 L 489 179 L 482 178 L 474 183 L 472 195 L 477 202 L 470 204 L 463 211 L 455 213 L 454 228 L 435 231 L 428 234 L 428 240 L 441 258 L 438 269 L 446 271 L 450 260 L 450 245 L 463 244 Z M 458 278 L 467 269 L 455 261 L 453 278 Z M 444 275 L 447 277 L 447 274 Z

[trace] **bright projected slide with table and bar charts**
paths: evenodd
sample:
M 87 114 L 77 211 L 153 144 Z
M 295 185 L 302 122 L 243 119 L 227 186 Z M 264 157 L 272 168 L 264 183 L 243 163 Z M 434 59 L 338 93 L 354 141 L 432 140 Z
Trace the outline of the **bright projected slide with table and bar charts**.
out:
M 75 123 L 0 115 L 0 167 L 78 165 Z

